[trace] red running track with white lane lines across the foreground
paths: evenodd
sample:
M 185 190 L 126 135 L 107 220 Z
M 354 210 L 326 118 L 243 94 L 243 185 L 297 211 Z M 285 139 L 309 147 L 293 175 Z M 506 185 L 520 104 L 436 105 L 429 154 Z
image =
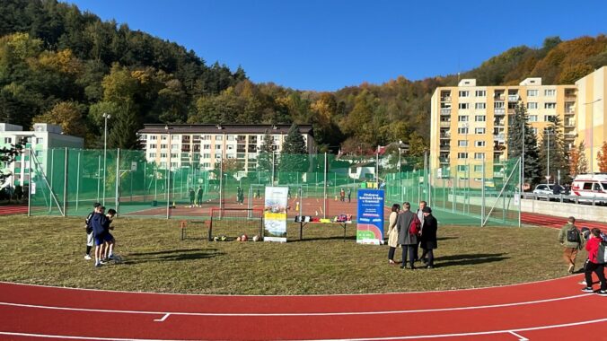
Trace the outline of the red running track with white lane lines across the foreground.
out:
M 607 339 L 607 297 L 579 275 L 428 293 L 222 296 L 0 283 L 0 338 Z

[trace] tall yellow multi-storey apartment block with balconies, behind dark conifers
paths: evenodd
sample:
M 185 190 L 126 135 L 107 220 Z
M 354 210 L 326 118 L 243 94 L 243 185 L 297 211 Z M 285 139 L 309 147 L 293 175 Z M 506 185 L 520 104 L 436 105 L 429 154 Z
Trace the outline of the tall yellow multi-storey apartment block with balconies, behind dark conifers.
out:
M 473 180 L 504 178 L 508 116 L 519 101 L 527 107 L 531 126 L 540 136 L 559 116 L 567 147 L 576 140 L 576 85 L 543 85 L 527 78 L 518 85 L 478 86 L 463 79 L 458 86 L 436 88 L 431 104 L 430 167 L 442 177 Z M 483 162 L 484 161 L 484 162 Z M 484 169 L 483 169 L 484 163 Z

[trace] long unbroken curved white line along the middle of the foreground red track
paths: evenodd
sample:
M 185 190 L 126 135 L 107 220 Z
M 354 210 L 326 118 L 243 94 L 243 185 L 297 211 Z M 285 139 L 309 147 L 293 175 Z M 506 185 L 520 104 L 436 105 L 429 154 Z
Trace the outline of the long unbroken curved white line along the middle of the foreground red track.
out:
M 0 305 L 21 307 L 21 308 L 34 308 L 34 309 L 48 309 L 48 310 L 69 310 L 69 311 L 92 311 L 92 312 L 111 312 L 111 313 L 124 313 L 124 314 L 154 314 L 154 315 L 180 315 L 180 316 L 241 316 L 241 317 L 291 317 L 291 316 L 351 316 L 351 315 L 389 315 L 389 314 L 407 314 L 407 313 L 418 313 L 418 312 L 440 312 L 440 311 L 460 311 L 460 310 L 479 310 L 479 309 L 491 309 L 491 308 L 505 308 L 515 307 L 521 305 L 530 305 L 546 302 L 557 302 L 572 300 L 581 298 L 594 293 L 581 293 L 574 296 L 566 296 L 559 298 L 552 298 L 547 300 L 529 301 L 529 302 L 515 302 L 515 303 L 503 303 L 493 305 L 479 305 L 471 307 L 456 307 L 456 308 L 436 308 L 436 309 L 418 309 L 418 310 L 376 310 L 376 311 L 335 311 L 335 312 L 180 312 L 180 311 L 140 311 L 140 310 L 109 310 L 109 309 L 91 309 L 91 308 L 68 308 L 68 307 L 55 307 L 48 305 L 35 305 L 35 304 L 22 304 L 22 303 L 10 303 L 0 302 Z

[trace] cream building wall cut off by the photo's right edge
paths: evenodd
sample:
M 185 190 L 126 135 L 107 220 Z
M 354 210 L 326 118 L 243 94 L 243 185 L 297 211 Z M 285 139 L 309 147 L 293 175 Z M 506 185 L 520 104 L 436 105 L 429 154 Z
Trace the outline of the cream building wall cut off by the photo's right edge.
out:
M 607 141 L 607 66 L 576 82 L 579 93 L 576 144 L 582 140 L 590 171 L 599 171 L 596 153 Z

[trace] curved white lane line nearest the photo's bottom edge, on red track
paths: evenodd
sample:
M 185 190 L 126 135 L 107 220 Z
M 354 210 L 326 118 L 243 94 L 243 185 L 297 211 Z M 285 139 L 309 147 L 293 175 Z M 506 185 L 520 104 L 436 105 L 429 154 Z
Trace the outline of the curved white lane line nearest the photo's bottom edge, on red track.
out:
M 583 326 L 592 323 L 605 322 L 607 319 L 592 319 L 581 322 L 564 323 L 558 325 L 539 326 L 530 328 L 520 329 L 504 329 L 504 330 L 488 330 L 488 331 L 477 331 L 471 333 L 453 333 L 453 334 L 435 334 L 435 335 L 418 335 L 418 336 L 405 336 L 405 337 L 365 337 L 365 338 L 326 338 L 326 339 L 309 339 L 310 341 L 388 341 L 388 340 L 407 340 L 416 338 L 439 338 L 439 337 L 472 337 L 481 335 L 496 335 L 496 334 L 513 334 L 514 332 L 522 331 L 534 331 L 534 330 L 545 330 L 553 328 L 567 328 Z M 49 335 L 49 334 L 30 334 L 30 333 L 16 333 L 10 331 L 0 331 L 0 335 L 12 336 L 12 337 L 43 337 L 43 338 L 66 338 L 66 339 L 78 339 L 78 340 L 99 340 L 99 341 L 182 341 L 180 339 L 161 339 L 161 338 L 119 338 L 119 337 L 75 337 L 75 336 L 63 336 L 63 335 Z

